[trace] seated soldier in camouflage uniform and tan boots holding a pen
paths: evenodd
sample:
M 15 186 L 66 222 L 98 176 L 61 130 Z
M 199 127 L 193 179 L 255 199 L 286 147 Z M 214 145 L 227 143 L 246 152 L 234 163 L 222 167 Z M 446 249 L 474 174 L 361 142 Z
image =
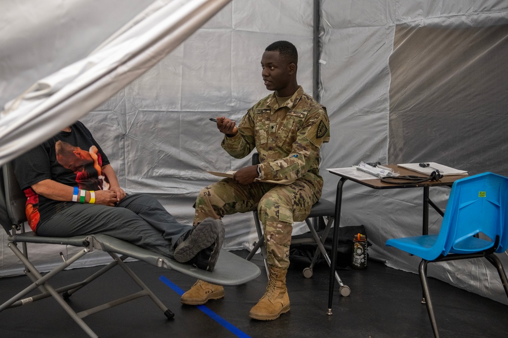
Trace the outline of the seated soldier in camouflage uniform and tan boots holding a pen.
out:
M 268 46 L 261 60 L 266 96 L 248 110 L 238 127 L 233 120 L 217 118 L 225 134 L 221 146 L 243 158 L 256 148 L 260 164 L 238 170 L 232 179 L 205 187 L 196 199 L 194 225 L 212 217 L 258 209 L 264 226 L 269 283 L 265 295 L 250 310 L 250 317 L 272 320 L 290 310 L 285 287 L 293 222 L 304 221 L 321 197 L 320 147 L 330 139 L 325 107 L 297 84 L 295 46 L 278 41 Z M 290 184 L 259 182 L 294 180 Z M 224 288 L 198 281 L 183 294 L 182 303 L 198 305 L 224 296 Z

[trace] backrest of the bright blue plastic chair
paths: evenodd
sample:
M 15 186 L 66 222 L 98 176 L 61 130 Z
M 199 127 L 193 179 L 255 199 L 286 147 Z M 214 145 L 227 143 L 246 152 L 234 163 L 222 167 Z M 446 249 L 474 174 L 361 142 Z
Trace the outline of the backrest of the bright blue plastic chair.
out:
M 454 182 L 438 240 L 444 240 L 443 254 L 474 253 L 508 245 L 508 178 L 483 173 Z

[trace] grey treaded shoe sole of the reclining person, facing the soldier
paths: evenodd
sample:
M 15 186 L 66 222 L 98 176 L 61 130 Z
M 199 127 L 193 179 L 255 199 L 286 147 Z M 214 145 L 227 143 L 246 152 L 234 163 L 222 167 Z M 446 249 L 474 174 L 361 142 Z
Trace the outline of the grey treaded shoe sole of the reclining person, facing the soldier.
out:
M 220 227 L 217 221 L 219 220 L 207 218 L 198 224 L 189 238 L 176 247 L 173 253 L 174 258 L 180 263 L 188 262 L 198 252 L 212 245 L 217 238 L 219 229 L 224 229 L 224 226 Z

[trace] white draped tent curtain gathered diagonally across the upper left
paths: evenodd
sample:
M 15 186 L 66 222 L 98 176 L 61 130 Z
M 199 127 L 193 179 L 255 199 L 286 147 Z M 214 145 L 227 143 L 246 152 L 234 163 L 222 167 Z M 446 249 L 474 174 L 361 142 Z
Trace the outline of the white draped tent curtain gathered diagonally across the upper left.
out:
M 0 114 L 0 164 L 105 102 L 230 1 L 155 2 L 88 57 L 35 83 Z

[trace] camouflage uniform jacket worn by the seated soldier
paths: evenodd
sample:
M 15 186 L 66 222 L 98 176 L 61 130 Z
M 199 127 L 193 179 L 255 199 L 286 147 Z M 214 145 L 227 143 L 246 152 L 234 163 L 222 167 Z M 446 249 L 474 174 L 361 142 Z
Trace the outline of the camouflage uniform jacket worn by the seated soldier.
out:
M 256 147 L 261 179 L 303 178 L 321 195 L 320 147 L 330 140 L 330 122 L 326 108 L 301 86 L 283 106 L 273 93 L 260 100 L 242 118 L 238 131 L 221 143 L 231 156 L 243 158 Z

